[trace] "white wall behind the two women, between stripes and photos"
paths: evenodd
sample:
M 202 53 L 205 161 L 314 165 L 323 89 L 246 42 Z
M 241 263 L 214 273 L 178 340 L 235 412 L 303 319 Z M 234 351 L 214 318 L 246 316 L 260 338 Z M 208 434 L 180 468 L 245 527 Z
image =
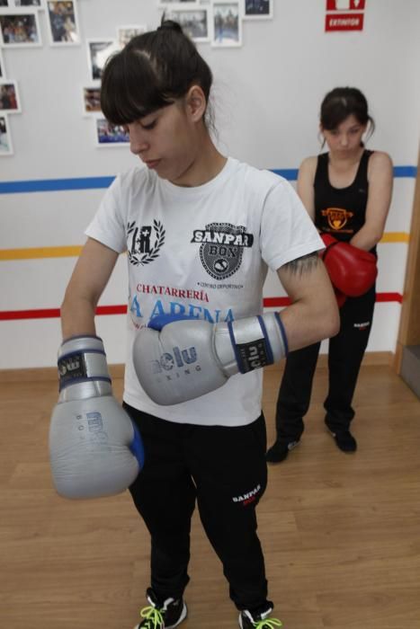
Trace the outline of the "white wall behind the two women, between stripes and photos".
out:
M 40 13 L 43 46 L 3 49 L 8 79 L 18 82 L 22 113 L 9 116 L 14 155 L 0 158 L 1 182 L 113 176 L 134 164 L 127 147 L 94 146 L 94 121 L 82 113 L 88 84 L 86 39 L 115 36 L 119 25 L 159 20 L 156 0 L 79 0 L 82 44 L 51 47 Z M 336 85 L 355 85 L 371 104 L 377 130 L 369 146 L 394 164 L 416 165 L 420 111 L 420 3 L 367 0 L 362 32 L 324 32 L 325 0 L 275 0 L 273 21 L 244 22 L 243 46 L 198 44 L 215 75 L 219 146 L 258 167 L 296 169 L 319 150 L 317 113 Z M 395 180 L 387 232 L 409 232 L 415 180 Z M 80 245 L 103 190 L 0 194 L 4 250 Z M 402 294 L 407 243 L 379 245 L 380 292 Z M 58 308 L 76 259 L 0 261 L 0 315 Z M 126 301 L 121 257 L 101 304 Z M 265 297 L 282 295 L 270 275 Z M 400 306 L 379 303 L 368 350 L 395 349 Z M 124 359 L 124 315 L 98 316 L 109 361 Z M 0 368 L 55 365 L 57 318 L 0 320 Z

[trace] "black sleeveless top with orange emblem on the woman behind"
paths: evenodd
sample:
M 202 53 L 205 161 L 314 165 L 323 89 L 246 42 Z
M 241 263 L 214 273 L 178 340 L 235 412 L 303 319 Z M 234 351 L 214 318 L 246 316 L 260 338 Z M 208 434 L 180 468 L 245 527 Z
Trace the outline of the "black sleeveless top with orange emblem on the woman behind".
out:
M 328 153 L 317 157 L 315 173 L 315 225 L 337 240 L 348 242 L 364 225 L 368 202 L 368 162 L 373 151 L 364 150 L 353 183 L 333 188 L 328 178 Z

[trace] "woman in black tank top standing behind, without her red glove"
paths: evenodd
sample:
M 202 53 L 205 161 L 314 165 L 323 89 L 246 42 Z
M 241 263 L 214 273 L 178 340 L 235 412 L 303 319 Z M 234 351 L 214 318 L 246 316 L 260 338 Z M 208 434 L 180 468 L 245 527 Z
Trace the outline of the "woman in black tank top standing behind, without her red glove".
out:
M 360 90 L 338 87 L 327 93 L 321 105 L 320 133 L 328 152 L 307 157 L 299 168 L 298 193 L 323 238 L 352 245 L 355 261 L 344 265 L 350 285 L 357 277 L 358 256 L 376 256 L 385 228 L 392 192 L 392 162 L 388 154 L 365 149 L 374 122 Z M 348 247 L 348 245 L 345 247 Z M 334 268 L 340 244 L 328 251 Z M 362 251 L 361 251 L 362 250 Z M 341 264 L 342 262 L 340 262 Z M 356 265 L 356 266 L 354 266 Z M 343 269 L 342 269 L 343 270 Z M 334 276 L 333 276 L 334 277 Z M 334 283 L 334 282 L 333 282 Z M 341 286 L 343 288 L 343 286 Z M 347 297 L 335 290 L 340 307 L 340 332 L 329 340 L 328 394 L 324 403 L 326 428 L 343 452 L 354 452 L 356 440 L 350 432 L 354 417 L 353 394 L 369 341 L 375 305 L 375 284 L 360 297 Z M 280 463 L 299 444 L 308 412 L 312 380 L 320 343 L 290 352 L 277 401 L 277 439 L 268 450 L 269 463 Z

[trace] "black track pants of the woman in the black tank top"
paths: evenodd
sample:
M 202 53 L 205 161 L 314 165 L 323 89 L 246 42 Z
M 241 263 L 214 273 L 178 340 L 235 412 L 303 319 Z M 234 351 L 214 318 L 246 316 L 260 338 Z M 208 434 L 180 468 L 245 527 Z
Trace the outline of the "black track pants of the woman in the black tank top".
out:
M 362 297 L 348 298 L 340 309 L 340 332 L 329 340 L 328 394 L 324 407 L 332 431 L 349 430 L 353 420 L 353 394 L 362 358 L 371 333 L 375 289 Z M 286 359 L 277 400 L 277 439 L 294 441 L 303 432 L 320 343 L 291 351 Z

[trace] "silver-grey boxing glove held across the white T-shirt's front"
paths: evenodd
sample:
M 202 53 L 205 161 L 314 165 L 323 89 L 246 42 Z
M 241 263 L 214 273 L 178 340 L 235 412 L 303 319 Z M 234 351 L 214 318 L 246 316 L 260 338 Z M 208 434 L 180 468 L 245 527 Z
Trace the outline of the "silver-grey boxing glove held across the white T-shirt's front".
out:
M 164 406 L 208 394 L 229 377 L 272 365 L 286 355 L 278 313 L 229 323 L 162 315 L 139 330 L 133 346 L 140 385 Z

